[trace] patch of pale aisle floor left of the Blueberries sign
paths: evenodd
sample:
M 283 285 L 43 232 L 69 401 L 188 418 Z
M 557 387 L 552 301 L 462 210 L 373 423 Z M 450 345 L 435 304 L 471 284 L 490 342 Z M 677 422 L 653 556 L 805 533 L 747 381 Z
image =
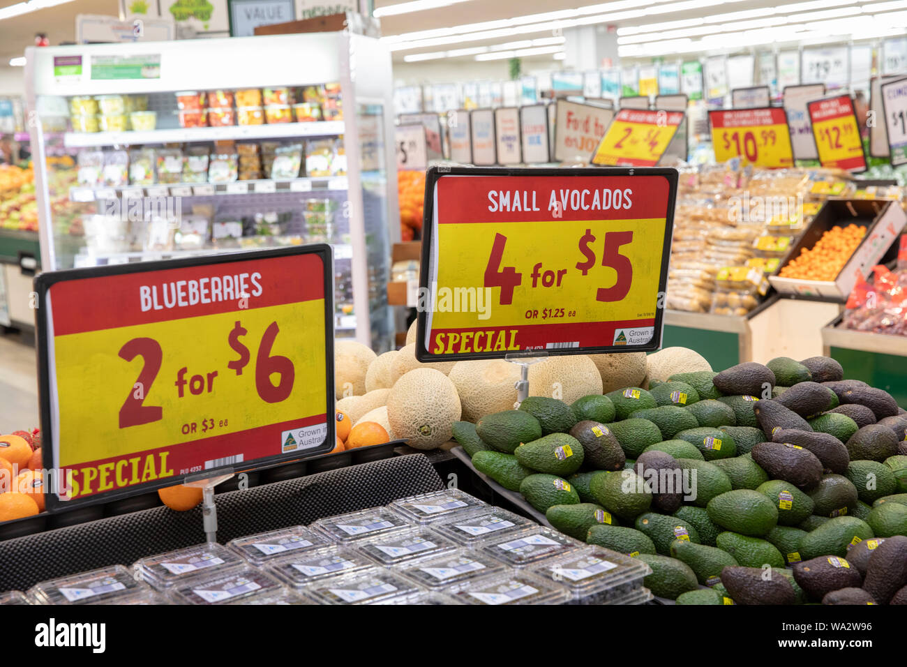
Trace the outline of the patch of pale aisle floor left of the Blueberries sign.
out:
M 0 335 L 0 433 L 38 427 L 34 347 Z

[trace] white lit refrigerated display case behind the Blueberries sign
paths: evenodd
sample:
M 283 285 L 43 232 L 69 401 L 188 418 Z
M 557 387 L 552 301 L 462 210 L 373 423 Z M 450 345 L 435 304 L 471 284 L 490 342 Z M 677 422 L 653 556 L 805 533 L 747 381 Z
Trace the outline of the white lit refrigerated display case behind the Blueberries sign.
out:
M 336 336 L 391 348 L 400 231 L 378 40 L 87 44 L 26 59 L 44 270 L 329 242 Z M 45 162 L 57 152 L 72 160 Z

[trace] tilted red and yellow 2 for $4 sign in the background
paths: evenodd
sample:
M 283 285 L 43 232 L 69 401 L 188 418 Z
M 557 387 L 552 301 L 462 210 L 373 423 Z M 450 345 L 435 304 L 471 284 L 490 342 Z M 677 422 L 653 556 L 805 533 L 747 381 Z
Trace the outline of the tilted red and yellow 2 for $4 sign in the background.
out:
M 621 109 L 592 155 L 592 164 L 654 167 L 683 121 L 683 113 Z

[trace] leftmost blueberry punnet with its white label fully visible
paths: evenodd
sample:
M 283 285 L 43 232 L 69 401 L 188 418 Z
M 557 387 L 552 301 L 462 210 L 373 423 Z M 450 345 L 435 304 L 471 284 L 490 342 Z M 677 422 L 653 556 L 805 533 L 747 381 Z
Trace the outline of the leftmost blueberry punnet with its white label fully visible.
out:
M 122 597 L 147 589 L 148 585 L 137 581 L 125 567 L 112 565 L 34 584 L 28 593 L 38 604 L 115 604 Z

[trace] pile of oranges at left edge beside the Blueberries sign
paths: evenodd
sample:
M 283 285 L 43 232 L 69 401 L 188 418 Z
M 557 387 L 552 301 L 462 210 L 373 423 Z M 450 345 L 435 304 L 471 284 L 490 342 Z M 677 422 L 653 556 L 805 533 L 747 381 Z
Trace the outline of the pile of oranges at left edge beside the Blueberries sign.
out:
M 0 436 L 0 522 L 44 512 L 44 474 L 37 431 Z

